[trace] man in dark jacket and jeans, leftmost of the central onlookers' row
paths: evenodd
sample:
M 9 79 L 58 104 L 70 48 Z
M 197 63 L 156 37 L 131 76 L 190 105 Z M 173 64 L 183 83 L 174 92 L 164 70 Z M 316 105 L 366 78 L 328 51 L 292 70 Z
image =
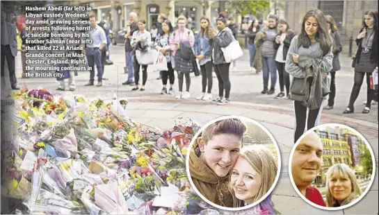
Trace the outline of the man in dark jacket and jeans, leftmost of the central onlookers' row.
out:
M 125 53 L 127 60 L 128 80 L 122 83 L 122 85 L 134 85 L 133 56 L 131 54 L 133 48 L 130 44 L 131 36 L 133 35 L 134 31 L 138 31 L 137 14 L 136 12 L 130 12 L 129 24 L 127 25 L 127 34 L 125 34 Z

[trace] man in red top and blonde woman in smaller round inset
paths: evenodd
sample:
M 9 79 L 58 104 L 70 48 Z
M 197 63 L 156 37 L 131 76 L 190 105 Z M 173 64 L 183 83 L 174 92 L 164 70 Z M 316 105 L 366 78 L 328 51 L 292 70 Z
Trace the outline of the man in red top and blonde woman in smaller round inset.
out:
M 323 207 L 341 207 L 353 203 L 362 194 L 355 173 L 346 164 L 334 164 L 326 173 L 325 196 L 312 187 L 320 170 L 323 155 L 323 143 L 316 132 L 309 132 L 300 140 L 293 152 L 291 173 L 293 182 L 300 193 L 316 205 Z

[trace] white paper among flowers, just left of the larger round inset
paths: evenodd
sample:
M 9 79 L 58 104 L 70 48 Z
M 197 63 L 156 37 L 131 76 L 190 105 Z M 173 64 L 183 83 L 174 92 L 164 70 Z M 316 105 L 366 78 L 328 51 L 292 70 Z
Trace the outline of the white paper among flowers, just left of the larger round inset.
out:
M 175 203 L 179 198 L 179 189 L 172 184 L 168 187 L 161 187 L 161 196 L 154 198 L 154 207 L 175 207 Z

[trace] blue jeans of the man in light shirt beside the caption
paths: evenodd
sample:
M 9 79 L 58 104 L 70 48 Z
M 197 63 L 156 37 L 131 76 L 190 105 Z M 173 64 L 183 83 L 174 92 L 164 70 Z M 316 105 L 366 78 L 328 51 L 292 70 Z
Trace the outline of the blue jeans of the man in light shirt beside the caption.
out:
M 86 57 L 88 66 L 90 70 L 90 81 L 95 80 L 95 65 L 97 68 L 97 81 L 102 82 L 103 80 L 103 65 L 102 65 L 102 53 L 99 48 L 88 48 L 86 49 Z

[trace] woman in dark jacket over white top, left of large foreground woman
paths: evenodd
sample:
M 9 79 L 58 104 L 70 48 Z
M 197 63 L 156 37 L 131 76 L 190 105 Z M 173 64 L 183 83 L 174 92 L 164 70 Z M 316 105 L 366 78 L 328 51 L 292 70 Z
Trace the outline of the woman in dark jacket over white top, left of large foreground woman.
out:
M 290 98 L 289 85 L 291 83 L 289 80 L 289 74 L 284 67 L 286 65 L 289 46 L 296 34 L 291 30 L 285 19 L 279 20 L 277 28 L 279 28 L 280 33 L 276 35 L 274 47 L 276 49 L 275 63 L 279 74 L 280 93 L 277 94 L 275 98 L 286 96 L 286 94 L 284 94 L 284 86 L 286 87 L 287 98 Z

